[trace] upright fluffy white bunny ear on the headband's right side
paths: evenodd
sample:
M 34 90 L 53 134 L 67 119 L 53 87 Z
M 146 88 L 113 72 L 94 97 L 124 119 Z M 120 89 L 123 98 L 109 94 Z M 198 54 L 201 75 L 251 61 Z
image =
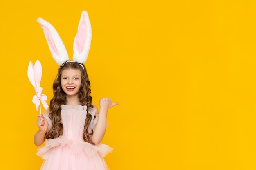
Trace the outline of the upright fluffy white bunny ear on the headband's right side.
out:
M 80 22 L 76 37 L 74 39 L 73 49 L 73 60 L 78 63 L 85 63 L 91 45 L 92 39 L 92 28 L 89 20 L 88 13 L 83 11 L 81 14 Z

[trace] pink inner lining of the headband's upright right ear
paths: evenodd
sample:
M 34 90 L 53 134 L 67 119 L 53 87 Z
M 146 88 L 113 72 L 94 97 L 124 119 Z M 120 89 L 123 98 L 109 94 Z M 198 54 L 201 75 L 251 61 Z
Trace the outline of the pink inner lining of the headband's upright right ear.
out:
M 79 52 L 79 54 L 81 54 L 84 50 L 86 35 L 87 35 L 87 29 L 86 29 L 87 24 L 84 18 L 85 17 L 83 15 L 83 19 L 80 23 L 80 26 L 76 34 L 76 49 Z

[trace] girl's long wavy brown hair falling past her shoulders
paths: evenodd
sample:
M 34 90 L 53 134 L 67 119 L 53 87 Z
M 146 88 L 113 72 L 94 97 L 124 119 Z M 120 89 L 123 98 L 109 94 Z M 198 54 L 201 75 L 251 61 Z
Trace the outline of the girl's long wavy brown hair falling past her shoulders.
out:
M 81 64 L 83 65 L 83 64 Z M 63 70 L 66 69 L 76 69 L 81 71 L 81 87 L 79 89 L 79 99 L 82 106 L 87 106 L 87 111 L 89 107 L 92 106 L 92 96 L 91 89 L 90 89 L 90 81 L 88 78 L 88 74 L 86 72 L 86 68 L 83 65 L 84 69 L 81 67 L 79 63 L 76 62 L 66 62 L 58 69 L 58 74 L 53 83 L 53 98 L 50 101 L 49 107 L 49 118 L 52 120 L 52 127 L 45 134 L 46 139 L 54 139 L 58 138 L 63 134 L 63 124 L 61 123 L 61 105 L 66 105 L 66 94 L 61 87 L 61 73 Z M 91 122 L 92 115 L 87 112 L 85 125 L 83 130 L 83 140 L 85 142 L 89 142 L 93 144 L 91 141 L 90 136 L 93 134 L 88 133 L 88 126 Z M 95 118 L 95 117 L 94 117 Z

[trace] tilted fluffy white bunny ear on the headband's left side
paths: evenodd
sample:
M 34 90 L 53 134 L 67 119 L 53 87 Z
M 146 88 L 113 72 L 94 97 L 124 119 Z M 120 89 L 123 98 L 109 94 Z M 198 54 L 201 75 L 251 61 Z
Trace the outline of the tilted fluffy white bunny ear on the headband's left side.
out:
M 52 53 L 52 57 L 58 63 L 58 65 L 62 65 L 65 61 L 69 60 L 67 50 L 61 40 L 61 37 L 58 35 L 56 29 L 49 22 L 43 20 L 42 18 L 38 18 L 37 22 L 43 28 L 43 32 L 45 34 L 45 38 L 47 40 L 48 46 Z

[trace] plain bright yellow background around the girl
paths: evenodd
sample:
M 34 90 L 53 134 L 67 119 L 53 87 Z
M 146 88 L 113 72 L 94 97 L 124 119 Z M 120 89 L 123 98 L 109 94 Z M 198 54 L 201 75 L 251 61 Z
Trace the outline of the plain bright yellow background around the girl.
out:
M 42 163 L 27 66 L 42 63 L 49 104 L 58 65 L 36 19 L 54 25 L 72 59 L 83 10 L 93 102 L 120 102 L 103 139 L 110 170 L 256 169 L 256 1 L 2 0 L 1 170 Z

